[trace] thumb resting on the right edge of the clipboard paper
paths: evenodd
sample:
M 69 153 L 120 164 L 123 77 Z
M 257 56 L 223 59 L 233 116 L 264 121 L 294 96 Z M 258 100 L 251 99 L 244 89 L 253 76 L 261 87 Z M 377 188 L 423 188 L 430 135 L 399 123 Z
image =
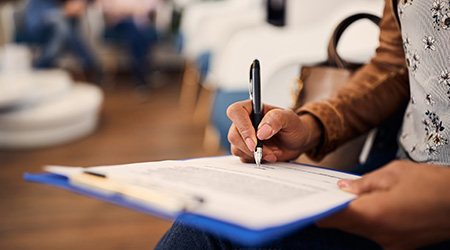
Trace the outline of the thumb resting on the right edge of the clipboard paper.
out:
M 388 190 L 395 183 L 395 175 L 388 169 L 380 169 L 356 180 L 340 180 L 337 184 L 344 191 L 361 195 L 374 191 Z

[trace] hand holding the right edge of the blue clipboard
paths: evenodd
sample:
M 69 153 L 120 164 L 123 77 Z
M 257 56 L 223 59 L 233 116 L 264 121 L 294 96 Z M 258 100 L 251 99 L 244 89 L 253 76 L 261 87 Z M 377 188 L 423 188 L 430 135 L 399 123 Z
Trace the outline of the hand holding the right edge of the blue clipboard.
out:
M 450 168 L 394 161 L 338 185 L 359 197 L 319 226 L 372 239 L 387 249 L 450 240 Z

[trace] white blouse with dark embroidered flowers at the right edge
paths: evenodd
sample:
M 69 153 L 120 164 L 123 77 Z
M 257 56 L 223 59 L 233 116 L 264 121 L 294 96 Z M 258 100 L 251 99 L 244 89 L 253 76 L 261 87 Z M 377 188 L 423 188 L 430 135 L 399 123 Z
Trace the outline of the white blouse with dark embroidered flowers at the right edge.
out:
M 450 0 L 398 4 L 411 99 L 400 143 L 417 162 L 450 164 Z

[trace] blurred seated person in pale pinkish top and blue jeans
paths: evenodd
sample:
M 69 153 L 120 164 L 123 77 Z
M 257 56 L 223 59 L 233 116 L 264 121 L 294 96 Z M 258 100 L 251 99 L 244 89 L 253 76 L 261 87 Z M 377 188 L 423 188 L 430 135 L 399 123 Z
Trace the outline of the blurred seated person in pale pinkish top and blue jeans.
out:
M 137 88 L 148 89 L 148 55 L 156 42 L 151 14 L 159 0 L 98 0 L 106 20 L 105 39 L 126 47 Z

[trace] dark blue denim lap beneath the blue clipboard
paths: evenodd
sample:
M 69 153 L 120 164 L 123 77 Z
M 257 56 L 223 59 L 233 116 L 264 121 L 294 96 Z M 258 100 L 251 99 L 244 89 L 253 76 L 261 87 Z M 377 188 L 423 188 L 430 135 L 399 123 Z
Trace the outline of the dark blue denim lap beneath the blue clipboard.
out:
M 335 229 L 321 229 L 310 226 L 286 238 L 278 239 L 260 247 L 234 245 L 208 233 L 196 230 L 176 221 L 163 236 L 158 250 L 181 249 L 308 249 L 308 250 L 344 250 L 344 249 L 381 249 L 376 243 L 362 237 Z

